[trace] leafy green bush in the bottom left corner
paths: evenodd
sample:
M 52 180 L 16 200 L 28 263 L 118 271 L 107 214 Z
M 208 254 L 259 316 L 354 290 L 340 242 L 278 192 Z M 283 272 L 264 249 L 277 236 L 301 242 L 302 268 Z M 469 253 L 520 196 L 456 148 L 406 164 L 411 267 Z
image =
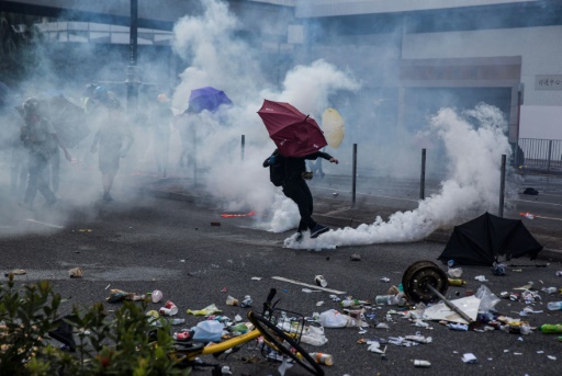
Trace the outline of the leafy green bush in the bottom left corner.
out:
M 147 301 L 124 301 L 110 318 L 99 303 L 64 320 L 77 331 L 76 352 L 48 340 L 60 324 L 63 301 L 44 281 L 18 290 L 10 275 L 0 284 L 0 375 L 189 375 L 175 367 L 167 353 L 173 340 L 169 324 L 155 328 L 147 320 Z M 156 332 L 157 341 L 149 335 Z M 157 343 L 158 345 L 156 345 Z

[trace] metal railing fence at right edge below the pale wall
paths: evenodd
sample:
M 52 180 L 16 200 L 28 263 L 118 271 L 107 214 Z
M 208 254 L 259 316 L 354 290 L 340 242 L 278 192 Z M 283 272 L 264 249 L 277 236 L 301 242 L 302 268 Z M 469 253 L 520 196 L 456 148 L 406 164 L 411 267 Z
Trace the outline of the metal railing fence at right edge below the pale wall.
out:
M 516 166 L 547 171 L 562 169 L 561 139 L 519 138 L 517 150 L 513 157 Z

